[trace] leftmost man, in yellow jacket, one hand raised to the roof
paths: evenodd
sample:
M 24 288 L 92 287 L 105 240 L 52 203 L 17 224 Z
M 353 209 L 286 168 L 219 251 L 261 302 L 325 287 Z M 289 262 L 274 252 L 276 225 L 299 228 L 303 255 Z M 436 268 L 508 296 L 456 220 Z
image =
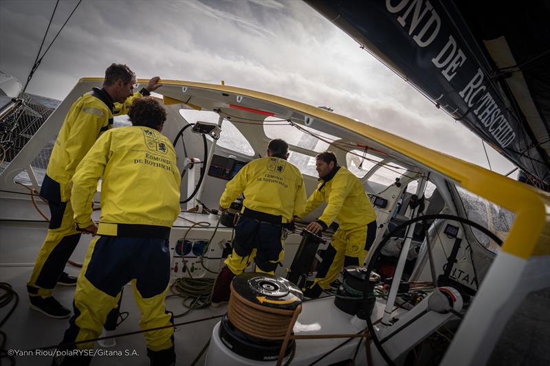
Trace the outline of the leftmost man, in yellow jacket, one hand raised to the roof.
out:
M 113 126 L 113 115 L 127 113 L 134 98 L 160 87 L 159 77 L 132 95 L 135 74 L 126 65 L 112 64 L 105 70 L 102 89 L 94 88 L 74 102 L 57 136 L 40 195 L 50 206 L 50 226 L 27 284 L 30 307 L 52 318 L 69 317 L 71 311 L 52 297 L 57 284 L 71 286 L 76 277 L 63 272 L 80 232 L 74 228 L 71 180 L 80 160 L 96 139 Z

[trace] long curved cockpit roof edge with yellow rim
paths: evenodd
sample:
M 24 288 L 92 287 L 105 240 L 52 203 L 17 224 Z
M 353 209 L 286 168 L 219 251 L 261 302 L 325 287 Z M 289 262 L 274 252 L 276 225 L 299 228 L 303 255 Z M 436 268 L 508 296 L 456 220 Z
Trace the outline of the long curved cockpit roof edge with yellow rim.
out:
M 80 79 L 65 102 L 72 103 L 101 78 Z M 138 80 L 146 84 L 147 80 Z M 384 130 L 351 118 L 276 95 L 227 85 L 179 80 L 162 80 L 157 89 L 166 104 L 182 103 L 192 108 L 215 111 L 243 119 L 272 115 L 329 133 L 358 144 L 366 144 L 400 161 L 408 161 L 430 174 L 439 174 L 478 196 L 516 214 L 516 221 L 503 251 L 529 258 L 550 254 L 550 194 L 495 172 L 415 144 Z M 72 98 L 74 97 L 74 98 Z

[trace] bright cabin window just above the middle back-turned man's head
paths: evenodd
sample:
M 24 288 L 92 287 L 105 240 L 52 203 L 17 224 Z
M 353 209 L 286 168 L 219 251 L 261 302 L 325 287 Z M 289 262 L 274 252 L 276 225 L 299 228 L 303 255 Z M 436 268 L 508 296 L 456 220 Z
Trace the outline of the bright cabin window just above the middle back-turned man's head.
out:
M 314 128 L 306 126 L 300 126 L 300 128 L 303 130 L 292 126 L 289 122 L 281 122 L 281 119 L 276 117 L 267 117 L 263 122 L 263 131 L 270 139 L 283 139 L 287 141 L 289 145 L 298 146 L 299 148 L 305 148 L 315 152 L 330 150 L 329 143 L 338 140 L 338 137 L 329 135 L 328 133 L 322 133 Z

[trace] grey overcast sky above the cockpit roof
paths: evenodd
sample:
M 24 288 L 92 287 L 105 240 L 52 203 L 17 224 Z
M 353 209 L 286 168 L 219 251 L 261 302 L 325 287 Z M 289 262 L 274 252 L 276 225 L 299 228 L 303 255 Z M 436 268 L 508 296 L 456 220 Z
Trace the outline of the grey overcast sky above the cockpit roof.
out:
M 48 45 L 78 1 L 60 1 Z M 55 0 L 0 0 L 0 71 L 27 79 Z M 488 168 L 481 139 L 298 0 L 84 0 L 28 92 L 61 100 L 111 62 L 139 78 L 219 83 L 335 112 Z M 487 146 L 492 168 L 513 165 Z

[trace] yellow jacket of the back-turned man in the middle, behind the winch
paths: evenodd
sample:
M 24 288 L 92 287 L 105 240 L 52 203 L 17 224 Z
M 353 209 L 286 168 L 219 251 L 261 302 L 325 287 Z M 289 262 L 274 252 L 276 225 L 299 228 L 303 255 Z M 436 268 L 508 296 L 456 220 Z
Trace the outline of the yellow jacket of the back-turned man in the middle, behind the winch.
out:
M 243 193 L 244 207 L 283 216 L 288 222 L 304 209 L 304 179 L 300 170 L 285 159 L 263 157 L 250 161 L 225 186 L 219 205 L 228 208 Z

